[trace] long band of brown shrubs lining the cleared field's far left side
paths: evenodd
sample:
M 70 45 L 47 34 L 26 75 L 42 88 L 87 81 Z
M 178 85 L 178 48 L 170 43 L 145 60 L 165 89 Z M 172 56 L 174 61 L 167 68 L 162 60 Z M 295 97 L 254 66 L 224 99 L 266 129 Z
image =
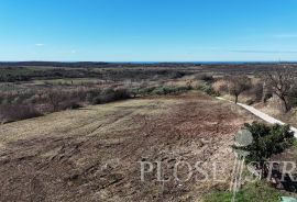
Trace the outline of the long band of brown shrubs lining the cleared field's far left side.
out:
M 108 86 L 100 88 L 96 83 L 61 86 L 58 82 L 42 89 L 10 90 L 0 93 L 0 121 L 7 123 L 40 116 L 45 113 L 78 109 L 86 104 L 103 104 L 127 100 L 131 97 L 177 94 L 191 89 L 190 86 L 155 86 L 134 89 L 133 87 Z

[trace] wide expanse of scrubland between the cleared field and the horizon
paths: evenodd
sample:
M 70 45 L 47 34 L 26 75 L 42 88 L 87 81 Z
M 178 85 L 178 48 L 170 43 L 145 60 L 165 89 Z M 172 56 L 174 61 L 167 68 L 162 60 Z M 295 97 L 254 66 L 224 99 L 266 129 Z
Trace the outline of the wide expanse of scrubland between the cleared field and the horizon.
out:
M 235 102 L 242 94 L 244 99 L 246 97 L 244 102 L 254 104 L 268 100 L 273 93 L 263 91 L 264 87 L 272 88 L 271 82 L 264 83 L 263 79 L 254 82 L 255 77 L 261 72 L 267 75 L 278 66 L 243 64 L 230 68 L 230 65 L 222 64 L 0 63 L 0 105 L 25 104 L 44 114 L 131 97 L 178 94 L 194 86 L 210 96 L 230 93 L 235 97 Z M 286 72 L 296 72 L 294 65 L 286 69 Z M 249 75 L 249 78 L 241 75 Z M 179 80 L 184 83 L 176 83 Z M 290 85 L 285 100 L 289 106 L 297 105 L 296 86 Z M 3 113 L 0 112 L 0 120 L 3 120 Z

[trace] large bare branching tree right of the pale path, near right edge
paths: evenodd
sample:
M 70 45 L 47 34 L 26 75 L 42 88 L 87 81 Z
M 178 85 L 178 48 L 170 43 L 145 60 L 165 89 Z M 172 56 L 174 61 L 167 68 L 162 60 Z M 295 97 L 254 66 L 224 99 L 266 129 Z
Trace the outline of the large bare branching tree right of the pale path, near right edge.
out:
M 289 97 L 296 88 L 296 75 L 285 66 L 283 68 L 275 68 L 273 71 L 265 74 L 267 85 L 272 92 L 276 94 L 283 102 L 285 112 L 290 111 Z

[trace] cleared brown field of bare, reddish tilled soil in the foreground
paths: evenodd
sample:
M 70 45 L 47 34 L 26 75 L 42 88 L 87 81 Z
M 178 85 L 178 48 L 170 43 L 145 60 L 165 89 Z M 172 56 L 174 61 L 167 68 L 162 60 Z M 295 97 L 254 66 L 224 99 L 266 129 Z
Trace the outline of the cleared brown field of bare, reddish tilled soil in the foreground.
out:
M 228 183 L 140 178 L 139 161 L 186 160 L 231 176 L 233 134 L 255 117 L 191 92 L 64 111 L 0 126 L 0 201 L 199 201 Z M 223 169 L 222 169 L 223 170 Z M 180 178 L 187 175 L 180 170 Z

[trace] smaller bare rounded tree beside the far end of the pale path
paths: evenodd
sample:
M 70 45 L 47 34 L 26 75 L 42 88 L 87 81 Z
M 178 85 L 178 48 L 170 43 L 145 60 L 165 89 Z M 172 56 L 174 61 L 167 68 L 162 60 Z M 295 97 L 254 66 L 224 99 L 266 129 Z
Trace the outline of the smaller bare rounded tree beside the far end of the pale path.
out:
M 235 103 L 239 101 L 239 96 L 251 88 L 251 79 L 246 76 L 234 76 L 229 78 L 229 93 L 235 97 Z

